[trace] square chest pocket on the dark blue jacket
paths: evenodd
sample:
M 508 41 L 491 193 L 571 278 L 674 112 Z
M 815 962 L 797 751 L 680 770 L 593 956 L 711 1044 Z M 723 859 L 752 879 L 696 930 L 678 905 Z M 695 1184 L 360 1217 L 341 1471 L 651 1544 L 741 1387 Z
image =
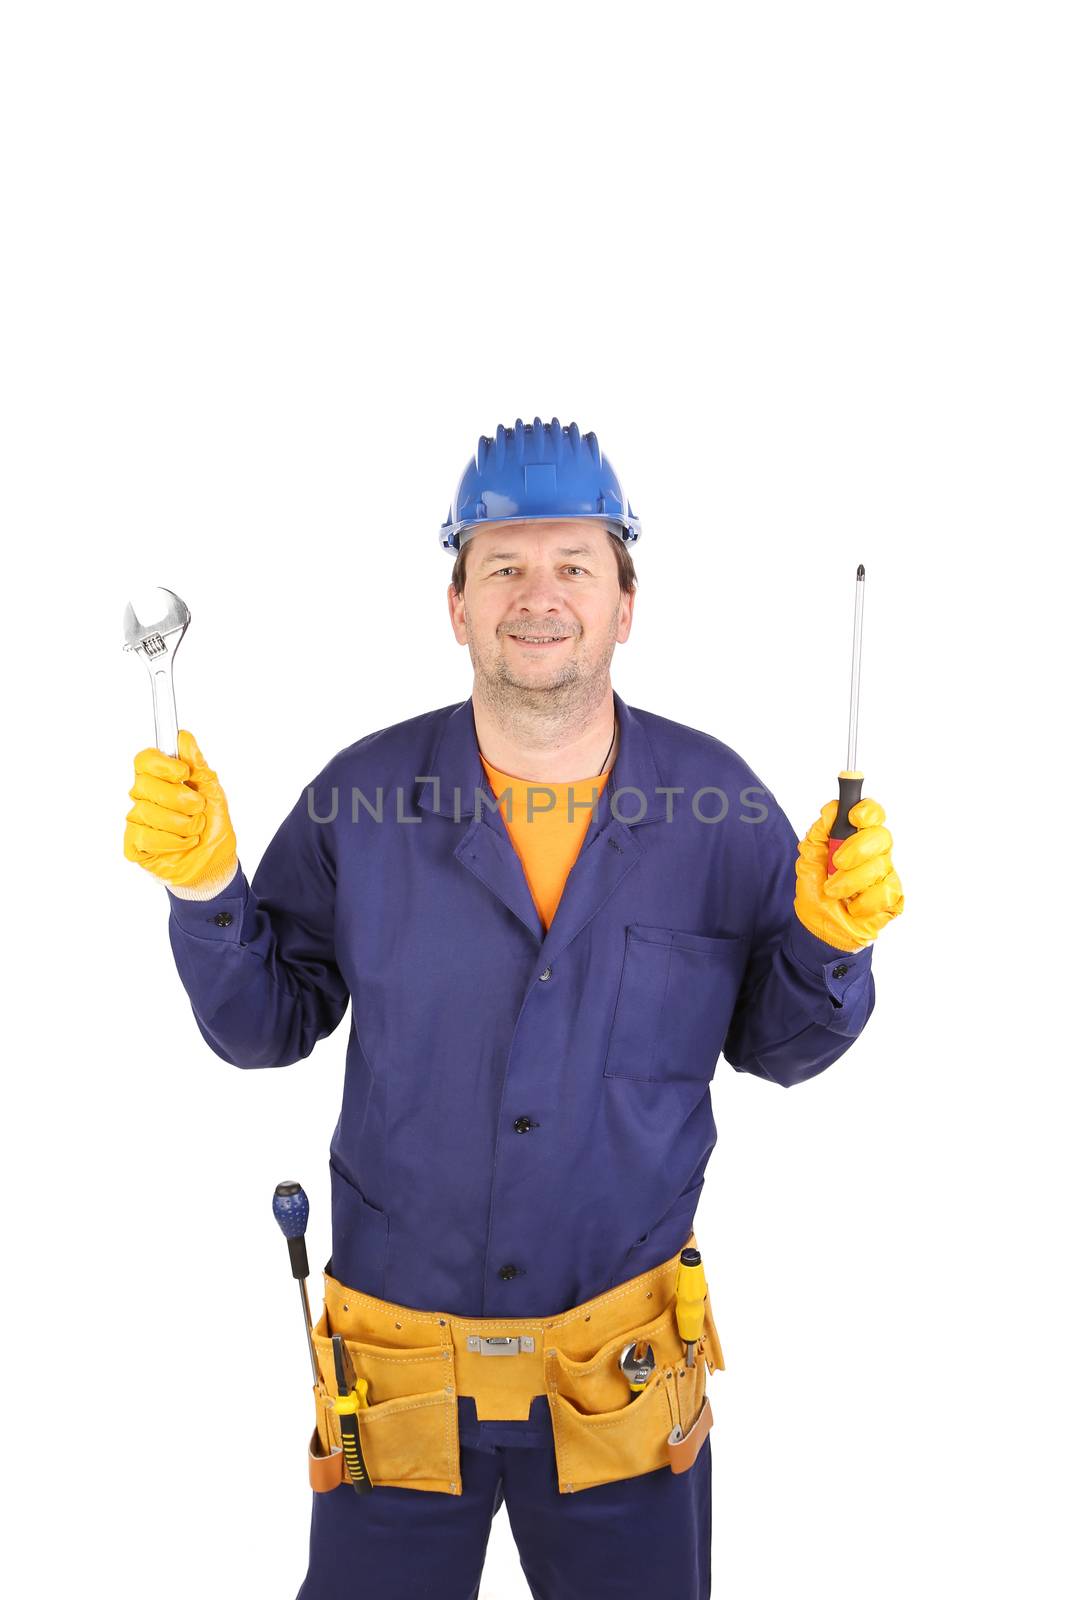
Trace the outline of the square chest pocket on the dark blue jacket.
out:
M 749 941 L 630 923 L 605 1077 L 710 1082 Z

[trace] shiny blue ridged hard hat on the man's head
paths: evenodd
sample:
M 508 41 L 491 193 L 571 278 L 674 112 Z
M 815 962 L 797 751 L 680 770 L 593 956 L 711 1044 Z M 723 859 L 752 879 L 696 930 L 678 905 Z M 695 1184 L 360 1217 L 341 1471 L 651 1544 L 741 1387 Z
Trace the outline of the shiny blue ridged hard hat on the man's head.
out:
M 515 419 L 501 422 L 496 437 L 478 440 L 442 523 L 445 550 L 459 550 L 488 522 L 544 522 L 550 517 L 590 517 L 603 522 L 624 544 L 641 536 L 640 518 L 614 467 L 601 454 L 595 434 L 579 434 L 577 422 L 560 427 Z

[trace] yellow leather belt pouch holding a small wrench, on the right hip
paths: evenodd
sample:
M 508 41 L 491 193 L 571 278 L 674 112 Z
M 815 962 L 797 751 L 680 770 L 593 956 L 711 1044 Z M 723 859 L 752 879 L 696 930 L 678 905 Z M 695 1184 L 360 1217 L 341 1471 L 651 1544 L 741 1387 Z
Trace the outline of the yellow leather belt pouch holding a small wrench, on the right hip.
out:
M 704 1333 L 694 1346 L 693 1366 L 678 1334 L 673 1306 L 677 1258 L 657 1269 L 659 1283 L 646 1291 L 667 1304 L 640 1323 L 605 1341 L 585 1360 L 552 1347 L 545 1331 L 545 1382 L 552 1413 L 555 1462 L 561 1494 L 640 1477 L 657 1467 L 686 1472 L 712 1426 L 707 1374 L 723 1366 L 723 1354 L 704 1302 Z M 656 1366 L 633 1395 L 619 1368 L 619 1352 L 633 1339 L 648 1339 Z

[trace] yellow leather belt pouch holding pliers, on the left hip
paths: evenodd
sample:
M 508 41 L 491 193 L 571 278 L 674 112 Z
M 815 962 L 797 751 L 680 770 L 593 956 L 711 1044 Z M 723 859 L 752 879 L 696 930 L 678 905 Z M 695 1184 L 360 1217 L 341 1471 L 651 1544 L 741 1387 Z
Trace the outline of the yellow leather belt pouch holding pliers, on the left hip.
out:
M 427 1333 L 432 1320 L 426 1318 Z M 446 1328 L 430 1344 L 390 1347 L 349 1339 L 355 1371 L 368 1381 L 370 1405 L 355 1421 L 371 1485 L 437 1490 L 458 1494 L 459 1424 L 453 1346 Z M 323 1310 L 314 1328 L 320 1381 L 315 1386 L 315 1432 L 307 1450 L 307 1475 L 318 1493 L 352 1483 L 341 1448 L 341 1422 L 330 1318 Z

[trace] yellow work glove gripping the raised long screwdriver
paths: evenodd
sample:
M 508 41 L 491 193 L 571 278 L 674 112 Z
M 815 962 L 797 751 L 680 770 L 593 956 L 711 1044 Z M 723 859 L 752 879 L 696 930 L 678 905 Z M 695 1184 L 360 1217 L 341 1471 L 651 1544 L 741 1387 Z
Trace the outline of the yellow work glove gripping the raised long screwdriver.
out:
M 904 891 L 889 851 L 893 834 L 877 800 L 857 800 L 848 813 L 849 834 L 825 874 L 829 837 L 837 800 L 829 800 L 797 846 L 797 899 L 793 907 L 808 933 L 835 950 L 862 950 L 885 925 L 904 910 Z

